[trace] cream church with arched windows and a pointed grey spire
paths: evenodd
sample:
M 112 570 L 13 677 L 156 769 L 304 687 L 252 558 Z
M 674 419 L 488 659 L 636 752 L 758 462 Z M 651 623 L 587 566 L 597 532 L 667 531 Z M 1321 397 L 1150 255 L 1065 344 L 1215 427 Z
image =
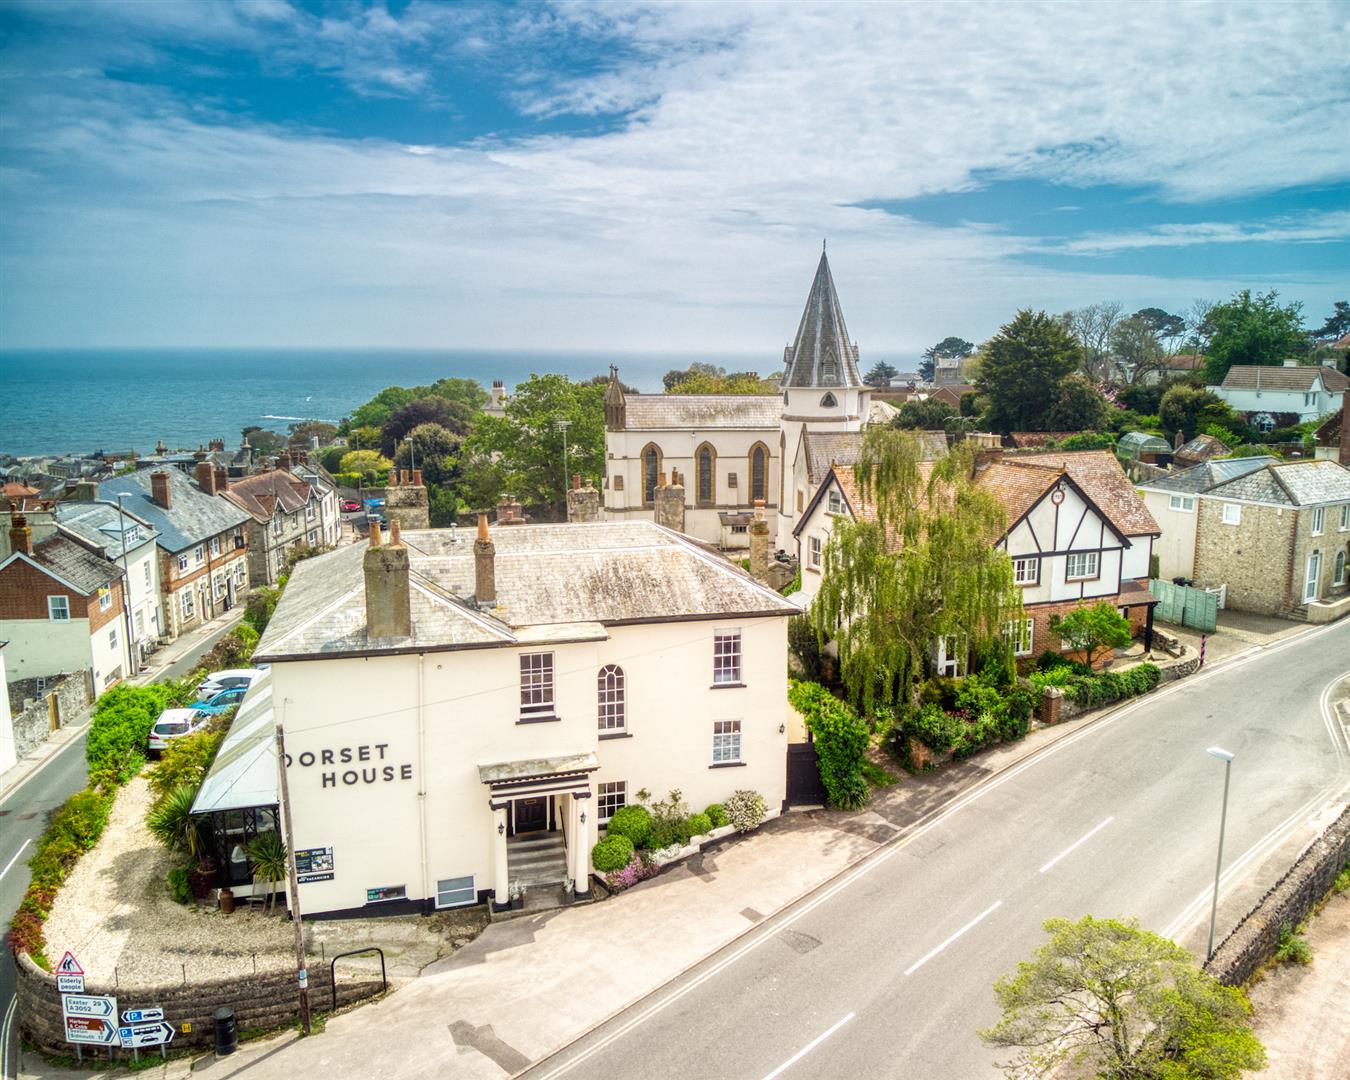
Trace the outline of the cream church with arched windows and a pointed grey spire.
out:
M 783 351 L 780 394 L 625 394 L 610 370 L 605 516 L 653 517 L 657 490 L 678 478 L 687 535 L 749 547 L 763 502 L 775 548 L 795 554 L 792 529 L 830 466 L 856 463 L 864 425 L 894 413 L 873 404 L 863 382 L 822 251 L 796 338 Z

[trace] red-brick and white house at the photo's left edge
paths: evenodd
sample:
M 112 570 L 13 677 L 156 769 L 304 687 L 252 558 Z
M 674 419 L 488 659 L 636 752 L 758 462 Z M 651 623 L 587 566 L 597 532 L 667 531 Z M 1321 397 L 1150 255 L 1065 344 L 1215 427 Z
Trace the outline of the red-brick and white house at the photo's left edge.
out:
M 11 679 L 88 672 L 101 694 L 130 668 L 122 567 L 62 535 L 9 516 L 0 558 L 0 641 Z

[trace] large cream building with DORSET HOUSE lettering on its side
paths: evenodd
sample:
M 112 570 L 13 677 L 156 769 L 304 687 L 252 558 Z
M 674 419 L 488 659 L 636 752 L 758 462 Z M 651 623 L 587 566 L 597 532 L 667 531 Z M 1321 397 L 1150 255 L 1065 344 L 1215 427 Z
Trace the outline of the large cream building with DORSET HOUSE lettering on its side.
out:
M 585 895 L 641 788 L 784 799 L 796 608 L 649 521 L 479 529 L 300 563 L 259 643 L 305 914 Z

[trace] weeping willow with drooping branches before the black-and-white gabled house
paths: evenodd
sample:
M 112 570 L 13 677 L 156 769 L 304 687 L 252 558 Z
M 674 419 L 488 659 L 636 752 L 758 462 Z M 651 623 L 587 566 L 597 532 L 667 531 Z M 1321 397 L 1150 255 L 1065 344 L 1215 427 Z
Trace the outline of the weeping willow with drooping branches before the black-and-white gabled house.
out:
M 836 641 L 860 711 L 907 702 L 940 639 L 1011 649 L 1002 630 L 1022 598 L 1011 559 L 994 547 L 1007 518 L 973 483 L 973 458 L 963 443 L 923 463 L 914 436 L 894 428 L 863 439 L 855 475 L 864 506 L 853 521 L 836 518 L 810 612 L 817 634 Z

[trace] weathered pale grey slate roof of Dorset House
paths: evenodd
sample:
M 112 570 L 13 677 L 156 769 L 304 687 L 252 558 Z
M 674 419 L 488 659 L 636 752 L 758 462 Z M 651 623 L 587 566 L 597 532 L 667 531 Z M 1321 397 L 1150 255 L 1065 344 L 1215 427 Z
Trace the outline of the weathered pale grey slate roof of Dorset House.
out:
M 467 531 L 402 537 L 412 568 L 409 637 L 369 637 L 366 547 L 355 544 L 296 567 L 254 662 L 591 640 L 603 634 L 603 624 L 798 610 L 740 567 L 652 521 L 494 529 L 498 606 L 486 612 L 471 602 Z

